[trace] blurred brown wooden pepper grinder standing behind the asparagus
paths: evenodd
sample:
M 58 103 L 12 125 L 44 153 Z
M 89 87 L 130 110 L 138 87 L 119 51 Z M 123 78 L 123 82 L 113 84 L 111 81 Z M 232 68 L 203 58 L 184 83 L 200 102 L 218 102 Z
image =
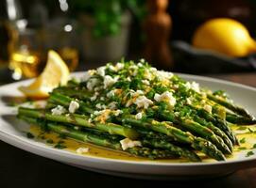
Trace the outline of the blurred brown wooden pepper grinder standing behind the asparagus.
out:
M 173 59 L 168 45 L 172 19 L 165 12 L 168 0 L 147 0 L 145 18 L 145 59 L 159 69 L 171 70 Z

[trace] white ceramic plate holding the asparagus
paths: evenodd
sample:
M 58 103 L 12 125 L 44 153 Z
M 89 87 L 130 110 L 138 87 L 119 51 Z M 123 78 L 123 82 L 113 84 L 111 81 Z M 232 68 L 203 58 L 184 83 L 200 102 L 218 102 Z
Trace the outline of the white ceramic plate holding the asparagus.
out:
M 75 73 L 79 77 L 81 73 Z M 226 90 L 238 104 L 256 115 L 256 88 L 234 84 L 213 78 L 180 74 L 186 80 L 196 81 L 200 86 Z M 92 156 L 81 156 L 62 149 L 53 149 L 43 143 L 26 138 L 23 131 L 28 125 L 15 118 L 14 107 L 6 101 L 9 97 L 21 96 L 18 86 L 27 85 L 31 80 L 0 86 L 0 139 L 20 149 L 50 158 L 61 163 L 117 176 L 150 179 L 191 179 L 222 176 L 235 170 L 256 166 L 256 156 L 245 157 L 241 152 L 235 159 L 211 163 L 159 163 L 155 161 L 133 162 Z M 254 150 L 256 153 L 256 149 Z M 0 162 L 1 163 L 1 162 Z

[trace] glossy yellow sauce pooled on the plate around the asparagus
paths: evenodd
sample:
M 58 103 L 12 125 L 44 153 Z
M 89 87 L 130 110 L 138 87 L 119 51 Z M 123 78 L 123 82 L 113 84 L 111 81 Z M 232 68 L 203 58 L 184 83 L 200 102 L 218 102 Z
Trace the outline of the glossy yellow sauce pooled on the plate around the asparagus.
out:
M 247 152 L 253 149 L 256 144 L 256 127 L 255 126 L 233 126 L 232 130 L 236 133 L 238 140 L 240 141 L 240 146 L 235 146 L 233 149 L 233 154 L 228 157 L 228 160 L 236 159 L 239 155 L 247 155 Z M 142 157 L 135 157 L 129 155 L 128 153 L 122 151 L 116 151 L 111 149 L 105 149 L 92 144 L 79 142 L 70 138 L 61 138 L 57 133 L 45 133 L 39 126 L 31 125 L 30 133 L 35 136 L 36 141 L 43 142 L 46 145 L 55 147 L 58 143 L 63 144 L 67 151 L 77 153 L 77 149 L 86 148 L 89 149 L 88 152 L 78 154 L 85 156 L 95 156 L 109 159 L 127 160 L 127 161 L 137 161 L 145 162 L 150 161 Z M 49 140 L 51 141 L 49 143 Z M 203 160 L 203 162 L 214 162 L 213 159 L 207 158 L 203 153 L 197 153 Z M 256 154 L 256 153 L 255 153 Z M 249 157 L 249 156 L 247 156 Z M 154 162 L 164 162 L 164 163 L 188 163 L 185 159 L 164 159 L 164 160 L 154 160 Z

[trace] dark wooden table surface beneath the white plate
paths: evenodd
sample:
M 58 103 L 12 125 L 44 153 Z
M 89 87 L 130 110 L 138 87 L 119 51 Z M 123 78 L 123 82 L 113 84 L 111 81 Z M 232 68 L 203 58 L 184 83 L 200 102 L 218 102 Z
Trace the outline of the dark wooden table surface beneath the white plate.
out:
M 256 72 L 218 75 L 225 80 L 256 86 Z M 255 96 L 256 98 L 256 96 Z M 0 141 L 0 188 L 8 187 L 227 187 L 256 188 L 256 168 L 213 180 L 154 181 L 111 177 L 45 159 Z M 51 185 L 51 186 L 50 186 Z

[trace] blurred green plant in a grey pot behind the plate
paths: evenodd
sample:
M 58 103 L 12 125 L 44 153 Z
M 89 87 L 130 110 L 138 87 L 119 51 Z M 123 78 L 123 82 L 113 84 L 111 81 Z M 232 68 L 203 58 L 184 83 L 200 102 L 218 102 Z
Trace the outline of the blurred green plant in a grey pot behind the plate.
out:
M 127 54 L 131 14 L 144 14 L 144 1 L 74 0 L 82 25 L 82 54 L 86 59 L 111 61 Z

